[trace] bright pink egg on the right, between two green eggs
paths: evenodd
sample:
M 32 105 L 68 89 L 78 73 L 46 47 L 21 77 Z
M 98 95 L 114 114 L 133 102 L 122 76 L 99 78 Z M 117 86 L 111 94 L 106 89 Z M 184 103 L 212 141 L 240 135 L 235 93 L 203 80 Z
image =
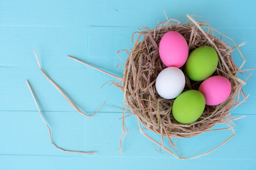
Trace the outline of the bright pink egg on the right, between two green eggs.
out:
M 213 76 L 203 81 L 198 91 L 206 98 L 206 105 L 215 106 L 230 96 L 231 84 L 225 77 Z

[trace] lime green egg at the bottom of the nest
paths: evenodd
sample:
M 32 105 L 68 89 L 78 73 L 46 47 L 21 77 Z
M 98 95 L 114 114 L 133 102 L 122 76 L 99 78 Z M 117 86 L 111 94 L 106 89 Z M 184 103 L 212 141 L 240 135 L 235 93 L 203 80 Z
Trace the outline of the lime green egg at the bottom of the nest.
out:
M 205 98 L 196 90 L 185 91 L 174 101 L 172 113 L 179 123 L 192 123 L 203 113 Z

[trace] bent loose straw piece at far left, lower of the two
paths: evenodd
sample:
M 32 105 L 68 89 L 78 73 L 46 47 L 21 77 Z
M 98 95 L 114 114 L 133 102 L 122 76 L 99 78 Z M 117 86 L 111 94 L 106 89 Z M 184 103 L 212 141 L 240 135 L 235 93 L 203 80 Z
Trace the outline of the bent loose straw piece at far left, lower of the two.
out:
M 96 152 L 85 152 L 85 151 L 66 150 L 66 149 L 63 149 L 63 148 L 61 148 L 61 147 L 58 147 L 58 145 L 55 145 L 55 143 L 54 143 L 53 140 L 52 140 L 52 135 L 51 135 L 50 127 L 49 127 L 48 124 L 46 123 L 46 120 L 43 118 L 43 114 L 42 114 L 41 111 L 40 111 L 40 108 L 39 108 L 38 103 L 37 103 L 37 101 L 36 101 L 36 98 L 35 98 L 35 96 L 34 96 L 34 94 L 33 94 L 33 91 L 32 91 L 32 89 L 31 89 L 31 86 L 30 86 L 30 84 L 28 83 L 28 80 L 26 80 L 26 83 L 27 83 L 27 85 L 28 85 L 29 91 L 31 91 L 31 95 L 32 95 L 32 97 L 33 97 L 33 101 L 35 101 L 35 103 L 36 103 L 36 108 L 38 109 L 38 112 L 40 113 L 40 116 L 41 116 L 41 118 L 42 118 L 42 120 L 43 120 L 43 123 L 46 125 L 46 128 L 48 129 L 48 132 L 49 132 L 49 135 L 50 135 L 50 143 L 51 143 L 54 147 L 56 147 L 57 149 L 60 149 L 60 150 L 63 151 L 63 152 L 82 153 L 82 154 L 96 154 Z

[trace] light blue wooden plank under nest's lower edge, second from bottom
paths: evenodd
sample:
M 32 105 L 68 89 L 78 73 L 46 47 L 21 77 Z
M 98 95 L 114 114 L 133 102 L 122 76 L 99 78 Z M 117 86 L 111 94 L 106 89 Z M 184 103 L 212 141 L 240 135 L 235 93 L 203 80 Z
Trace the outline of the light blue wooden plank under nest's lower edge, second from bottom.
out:
M 122 133 L 122 113 L 98 113 L 93 118 L 85 118 L 75 112 L 46 112 L 46 120 L 53 131 L 53 141 L 65 149 L 95 151 L 94 157 L 121 157 L 119 137 Z M 202 159 L 252 159 L 255 157 L 256 115 L 236 120 L 237 135 L 228 143 Z M 124 138 L 122 157 L 168 157 L 157 152 L 159 147 L 140 134 L 134 116 L 126 120 L 129 132 Z M 217 125 L 215 128 L 223 128 Z M 146 131 L 147 132 L 147 131 Z M 159 135 L 147 132 L 155 140 Z M 60 152 L 50 145 L 48 131 L 37 112 L 0 112 L 1 155 L 53 155 L 70 157 L 92 157 L 84 154 Z M 226 140 L 232 132 L 208 132 L 198 137 L 180 139 L 178 150 L 185 157 L 207 152 Z M 165 143 L 167 140 L 164 140 Z M 170 156 L 170 159 L 176 159 Z

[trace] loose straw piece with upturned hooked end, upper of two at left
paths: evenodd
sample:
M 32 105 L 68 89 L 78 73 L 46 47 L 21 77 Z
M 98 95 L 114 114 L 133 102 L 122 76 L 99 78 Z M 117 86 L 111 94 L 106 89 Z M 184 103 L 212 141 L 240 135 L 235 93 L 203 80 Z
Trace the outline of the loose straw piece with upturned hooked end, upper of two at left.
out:
M 54 82 L 52 79 L 50 79 L 50 77 L 48 77 L 48 75 L 46 74 L 46 72 L 43 71 L 43 69 L 42 69 L 42 67 L 41 67 L 41 64 L 40 64 L 40 62 L 39 62 L 39 60 L 38 60 L 38 55 L 36 54 L 36 50 L 34 50 L 34 53 L 35 53 L 35 55 L 36 55 L 36 60 L 37 60 L 37 62 L 38 62 L 38 66 L 39 66 L 41 72 L 43 72 L 43 75 L 45 75 L 45 77 L 48 79 L 48 81 L 50 81 L 50 83 L 53 84 L 53 86 L 55 87 L 55 89 L 57 89 L 57 90 L 60 92 L 60 94 L 63 95 L 63 97 L 68 101 L 68 103 L 70 104 L 70 106 L 72 106 L 73 108 L 75 108 L 76 111 L 78 111 L 78 112 L 81 113 L 82 115 L 85 115 L 85 116 L 88 117 L 88 118 L 94 116 L 98 111 L 100 111 L 100 108 L 102 108 L 102 106 L 104 105 L 104 103 L 102 103 L 102 106 L 100 106 L 100 108 L 99 108 L 95 113 L 92 113 L 92 115 L 87 115 L 86 113 L 83 113 L 83 112 L 80 110 L 80 108 L 78 108 L 78 106 L 76 106 L 75 103 L 73 103 L 73 101 L 71 101 L 70 98 L 68 98 L 68 96 L 64 93 L 64 91 L 62 91 L 62 90 L 60 89 L 60 87 L 59 87 L 57 84 L 55 84 L 55 82 Z

